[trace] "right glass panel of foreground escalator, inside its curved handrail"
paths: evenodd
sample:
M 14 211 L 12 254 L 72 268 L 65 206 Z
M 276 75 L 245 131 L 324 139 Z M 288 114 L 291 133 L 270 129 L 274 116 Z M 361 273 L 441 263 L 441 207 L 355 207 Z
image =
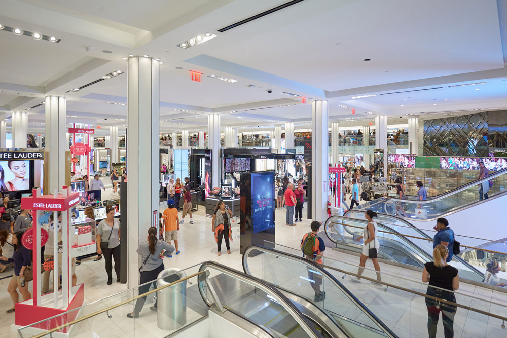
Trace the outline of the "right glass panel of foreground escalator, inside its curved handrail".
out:
M 258 269 L 260 266 L 262 268 Z M 303 297 L 327 312 L 348 336 L 384 336 L 382 328 L 365 315 L 347 292 L 313 266 L 252 249 L 246 256 L 246 267 L 252 276 Z

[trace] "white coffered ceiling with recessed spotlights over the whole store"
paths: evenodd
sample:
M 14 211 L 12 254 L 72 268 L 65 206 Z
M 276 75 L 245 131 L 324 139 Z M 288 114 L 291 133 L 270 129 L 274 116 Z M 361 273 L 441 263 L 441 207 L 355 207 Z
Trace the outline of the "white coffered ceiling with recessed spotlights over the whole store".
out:
M 230 126 L 309 125 L 310 100 L 324 98 L 330 100 L 330 119 L 347 123 L 352 117 L 372 121 L 377 114 L 424 117 L 507 107 L 507 34 L 504 41 L 501 35 L 507 15 L 495 0 L 305 0 L 216 31 L 285 2 L 4 0 L 0 24 L 62 41 L 0 31 L 0 112 L 8 117 L 44 95 L 62 95 L 117 69 L 126 72 L 122 57 L 128 54 L 164 62 L 161 131 L 204 130 L 209 112 L 220 112 L 222 124 Z M 189 49 L 176 47 L 204 32 L 218 36 Z M 202 72 L 202 83 L 190 81 L 189 70 Z M 486 84 L 449 87 L 477 82 Z M 126 102 L 126 84 L 124 73 L 65 94 L 69 121 L 123 127 L 127 107 L 105 102 Z M 436 87 L 442 88 L 420 91 Z M 411 92 L 381 95 L 399 91 Z M 305 96 L 308 103 L 281 92 Z M 358 95 L 375 96 L 351 99 Z M 29 120 L 43 121 L 43 114 L 40 106 Z

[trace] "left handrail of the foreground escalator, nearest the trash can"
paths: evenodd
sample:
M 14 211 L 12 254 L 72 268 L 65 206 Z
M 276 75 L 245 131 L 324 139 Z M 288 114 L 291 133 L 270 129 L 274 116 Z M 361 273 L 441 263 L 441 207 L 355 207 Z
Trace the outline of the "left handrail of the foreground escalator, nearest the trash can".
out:
M 287 297 L 285 297 L 283 295 L 283 293 L 281 293 L 279 290 L 272 287 L 271 285 L 267 284 L 263 280 L 261 280 L 257 277 L 254 277 L 254 276 L 247 275 L 246 273 L 242 273 L 237 270 L 231 269 L 231 268 L 229 268 L 225 265 L 219 264 L 217 262 L 209 261 L 209 260 L 203 262 L 203 264 L 199 268 L 199 272 L 205 271 L 208 267 L 211 267 L 217 271 L 220 271 L 222 273 L 233 276 L 233 277 L 235 277 L 247 284 L 254 285 L 256 288 L 266 292 L 266 294 L 271 295 L 285 309 L 285 311 L 287 311 L 289 313 L 289 315 L 291 315 L 294 318 L 294 320 L 296 320 L 296 322 L 308 334 L 308 336 L 322 337 L 322 334 L 320 332 L 318 332 L 312 325 L 310 325 L 307 322 L 305 316 L 298 310 L 298 308 L 291 301 L 289 301 L 289 299 L 287 299 Z M 209 301 L 208 297 L 206 296 L 206 293 L 204 292 L 204 290 L 201 289 L 202 284 L 198 283 L 198 285 L 199 285 L 199 292 L 201 294 L 201 297 L 202 297 L 203 301 L 208 305 L 208 307 L 211 306 L 212 304 L 214 304 Z M 229 311 L 236 313 L 234 310 L 229 310 Z M 236 313 L 236 314 L 238 314 L 238 313 Z M 238 314 L 238 315 L 240 315 L 241 317 L 244 317 L 241 314 Z M 259 325 L 257 323 L 255 323 L 255 324 Z

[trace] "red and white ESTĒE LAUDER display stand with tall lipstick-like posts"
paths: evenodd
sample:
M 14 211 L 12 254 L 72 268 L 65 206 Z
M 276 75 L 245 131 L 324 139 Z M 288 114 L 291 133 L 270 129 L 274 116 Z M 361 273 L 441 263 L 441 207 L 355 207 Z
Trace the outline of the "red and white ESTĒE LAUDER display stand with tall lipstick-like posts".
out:
M 41 195 L 40 189 L 33 189 L 31 197 L 21 198 L 21 208 L 34 211 L 33 228 L 31 234 L 23 236 L 23 245 L 33 249 L 33 289 L 32 299 L 16 304 L 15 327 L 30 325 L 46 318 L 76 309 L 84 302 L 84 285 L 72 286 L 72 246 L 74 243 L 73 227 L 71 227 L 71 211 L 79 202 L 79 193 L 71 193 L 69 187 L 63 186 L 62 192 L 56 190 L 52 195 Z M 47 212 L 53 213 L 53 222 L 50 223 Z M 58 212 L 61 212 L 61 222 L 58 221 Z M 49 224 L 49 232 L 53 232 L 54 252 L 45 252 L 53 255 L 53 288 L 52 293 L 42 295 L 41 274 L 41 246 L 47 240 L 47 232 L 42 225 Z M 59 229 L 60 228 L 60 229 Z M 58 233 L 61 230 L 61 254 L 58 246 Z M 30 236 L 31 235 L 31 236 Z M 61 262 L 58 262 L 61 257 Z M 39 264 L 38 264 L 39 262 Z M 59 267 L 61 266 L 62 287 L 58 290 Z M 50 322 L 34 326 L 44 331 L 54 328 L 62 323 L 74 320 L 78 312 L 70 312 L 65 318 L 57 317 Z M 70 327 L 62 329 L 62 333 L 68 333 Z

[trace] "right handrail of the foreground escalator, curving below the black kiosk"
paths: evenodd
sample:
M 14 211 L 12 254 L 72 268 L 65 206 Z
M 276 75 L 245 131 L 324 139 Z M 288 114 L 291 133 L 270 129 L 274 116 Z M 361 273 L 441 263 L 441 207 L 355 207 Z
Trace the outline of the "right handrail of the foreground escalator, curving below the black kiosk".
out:
M 375 314 L 373 314 L 373 312 L 370 311 L 370 309 L 368 309 L 363 303 L 361 303 L 361 301 L 359 301 L 359 299 L 356 296 L 354 296 L 352 294 L 352 292 L 350 292 L 340 281 L 338 281 L 335 278 L 335 276 L 330 274 L 327 270 L 319 267 L 318 264 L 316 264 L 315 262 L 309 261 L 303 257 L 295 256 L 290 253 L 282 252 L 282 251 L 279 251 L 276 249 L 266 248 L 264 246 L 255 244 L 255 245 L 250 245 L 249 247 L 247 247 L 243 251 L 242 262 L 243 262 L 243 270 L 245 271 L 245 273 L 250 274 L 250 270 L 248 269 L 247 259 L 248 259 L 248 253 L 250 253 L 250 251 L 252 251 L 252 250 L 259 250 L 259 251 L 265 251 L 267 253 L 274 253 L 277 256 L 281 256 L 281 257 L 284 257 L 287 259 L 292 259 L 292 260 L 296 260 L 298 262 L 302 262 L 307 267 L 311 267 L 312 269 L 315 269 L 316 271 L 318 271 L 322 275 L 325 275 L 326 277 L 328 277 L 332 281 L 332 283 L 336 287 L 338 287 L 338 289 L 340 289 L 350 299 L 350 301 L 352 301 L 352 303 L 354 303 L 359 309 L 361 309 L 363 311 L 363 313 L 368 318 L 370 318 L 373 322 L 377 323 L 379 325 L 379 327 L 381 327 L 383 329 L 383 332 L 387 336 L 397 337 L 397 335 L 389 327 L 387 327 L 387 325 L 385 325 L 384 322 L 382 322 L 377 316 L 375 316 Z

